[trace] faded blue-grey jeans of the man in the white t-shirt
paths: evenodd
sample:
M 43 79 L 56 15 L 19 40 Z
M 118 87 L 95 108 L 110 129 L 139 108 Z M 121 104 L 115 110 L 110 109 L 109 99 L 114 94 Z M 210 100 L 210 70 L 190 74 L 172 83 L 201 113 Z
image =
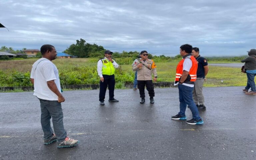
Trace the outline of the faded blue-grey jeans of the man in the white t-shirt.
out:
M 64 141 L 67 137 L 67 132 L 63 125 L 63 113 L 61 103 L 58 101 L 49 101 L 40 99 L 41 107 L 41 126 L 44 132 L 44 140 L 49 140 L 52 137 L 53 131 L 51 128 L 50 119 L 52 118 L 53 129 L 57 137 L 57 142 Z

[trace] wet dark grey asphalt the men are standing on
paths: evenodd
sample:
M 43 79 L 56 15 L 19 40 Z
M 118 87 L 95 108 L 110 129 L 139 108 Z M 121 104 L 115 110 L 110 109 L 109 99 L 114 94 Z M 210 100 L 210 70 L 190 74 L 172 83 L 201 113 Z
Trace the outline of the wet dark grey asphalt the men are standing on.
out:
M 179 111 L 178 88 L 156 88 L 155 104 L 147 94 L 140 104 L 138 90 L 115 90 L 119 102 L 105 106 L 99 90 L 64 91 L 64 127 L 80 140 L 72 148 L 43 144 L 40 103 L 32 92 L 0 93 L 0 159 L 255 160 L 256 95 L 243 88 L 204 88 L 201 126 L 171 119 Z M 186 116 L 192 118 L 189 109 Z

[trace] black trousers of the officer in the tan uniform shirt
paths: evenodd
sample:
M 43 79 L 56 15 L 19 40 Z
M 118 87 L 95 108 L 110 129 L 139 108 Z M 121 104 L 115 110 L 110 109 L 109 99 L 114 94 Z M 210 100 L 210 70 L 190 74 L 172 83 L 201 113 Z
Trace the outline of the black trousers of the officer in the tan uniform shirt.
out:
M 154 85 L 152 80 L 147 80 L 147 81 L 137 80 L 137 81 L 138 81 L 138 88 L 140 91 L 141 98 L 145 98 L 145 85 L 148 90 L 149 97 L 155 97 Z

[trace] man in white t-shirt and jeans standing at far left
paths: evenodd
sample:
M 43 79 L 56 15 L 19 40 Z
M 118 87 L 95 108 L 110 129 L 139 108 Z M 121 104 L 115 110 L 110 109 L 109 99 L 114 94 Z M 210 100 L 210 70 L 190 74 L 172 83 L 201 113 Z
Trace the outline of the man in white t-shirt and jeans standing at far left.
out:
M 41 47 L 41 54 L 42 58 L 33 64 L 30 78 L 34 84 L 34 95 L 40 100 L 44 144 L 57 141 L 58 148 L 76 146 L 79 140 L 69 138 L 63 125 L 61 102 L 65 98 L 61 94 L 58 69 L 51 62 L 57 58 L 56 49 L 45 44 Z M 51 128 L 51 118 L 55 134 Z

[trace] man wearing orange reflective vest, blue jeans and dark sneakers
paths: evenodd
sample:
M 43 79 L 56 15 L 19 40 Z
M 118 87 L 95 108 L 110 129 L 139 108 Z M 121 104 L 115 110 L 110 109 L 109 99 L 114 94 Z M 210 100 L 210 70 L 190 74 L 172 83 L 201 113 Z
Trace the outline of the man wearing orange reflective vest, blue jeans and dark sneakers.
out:
M 186 120 L 185 111 L 187 105 L 192 112 L 192 119 L 188 120 L 188 124 L 202 125 L 204 121 L 199 116 L 198 109 L 193 101 L 192 91 L 196 81 L 197 61 L 191 55 L 192 46 L 184 44 L 180 46 L 180 55 L 183 59 L 179 62 L 176 68 L 176 78 L 174 85 L 179 88 L 180 112 L 172 116 L 175 120 Z

